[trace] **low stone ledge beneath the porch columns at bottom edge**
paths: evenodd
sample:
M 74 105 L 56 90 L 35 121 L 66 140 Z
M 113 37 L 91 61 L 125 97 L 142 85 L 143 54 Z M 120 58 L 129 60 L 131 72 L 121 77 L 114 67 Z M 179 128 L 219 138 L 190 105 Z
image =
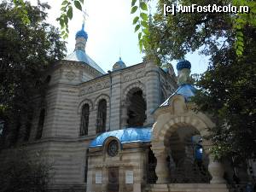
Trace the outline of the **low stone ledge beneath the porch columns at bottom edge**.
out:
M 150 192 L 229 192 L 225 184 L 212 183 L 168 183 L 151 184 Z

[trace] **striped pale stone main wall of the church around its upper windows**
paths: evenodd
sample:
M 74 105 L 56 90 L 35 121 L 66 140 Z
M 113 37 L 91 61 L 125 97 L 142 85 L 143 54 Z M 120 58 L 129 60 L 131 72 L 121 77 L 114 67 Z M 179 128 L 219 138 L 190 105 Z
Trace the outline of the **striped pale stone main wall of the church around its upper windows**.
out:
M 160 105 L 160 87 L 162 86 L 168 94 L 176 86 L 175 77 L 171 77 L 149 61 L 101 77 L 97 77 L 99 73 L 83 63 L 60 61 L 49 69 L 45 77 L 48 75 L 50 75 L 49 88 L 45 98 L 37 98 L 38 104 L 32 120 L 29 141 L 24 143 L 20 140 L 20 144 L 27 146 L 29 150 L 44 149 L 45 156 L 55 167 L 52 188 L 56 191 L 72 187 L 85 188 L 86 150 L 90 141 L 96 137 L 97 106 L 101 99 L 107 101 L 106 131 L 119 130 L 126 124 L 127 97 L 133 89 L 142 90 L 143 98 L 147 103 L 147 121 L 144 125 L 150 125 L 154 123 L 151 113 Z M 79 136 L 81 108 L 85 103 L 90 106 L 88 136 Z M 42 138 L 35 140 L 38 117 L 42 108 L 45 108 L 43 135 Z M 130 165 L 127 167 L 133 167 L 134 170 L 137 184 L 133 187 L 140 188 L 144 174 L 142 162 L 144 154 L 139 149 L 131 151 L 132 155 L 129 154 L 130 152 L 125 153 L 122 154 L 122 160 L 130 161 L 131 163 L 126 165 Z M 96 161 L 90 163 L 95 165 L 101 160 L 101 157 L 98 157 Z M 112 159 L 107 158 L 105 162 L 112 162 Z M 89 172 L 92 167 L 89 167 Z M 123 171 L 120 169 L 120 176 L 125 174 L 125 167 L 122 168 Z

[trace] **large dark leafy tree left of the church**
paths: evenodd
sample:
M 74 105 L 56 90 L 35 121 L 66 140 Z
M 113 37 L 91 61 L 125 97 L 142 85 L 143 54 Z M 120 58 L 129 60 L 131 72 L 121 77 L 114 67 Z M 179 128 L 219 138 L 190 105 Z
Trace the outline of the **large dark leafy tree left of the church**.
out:
M 66 51 L 60 33 L 45 21 L 49 6 L 24 6 L 29 24 L 23 22 L 20 8 L 0 3 L 0 119 L 8 122 L 8 131 L 21 116 L 24 123 L 31 119 L 32 98 L 44 90 L 45 68 L 62 59 Z

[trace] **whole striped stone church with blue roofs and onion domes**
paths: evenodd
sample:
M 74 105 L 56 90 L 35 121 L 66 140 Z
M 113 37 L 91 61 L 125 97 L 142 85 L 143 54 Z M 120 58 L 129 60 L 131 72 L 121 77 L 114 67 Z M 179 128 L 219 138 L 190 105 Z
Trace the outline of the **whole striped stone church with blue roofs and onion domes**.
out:
M 227 192 L 212 158 L 212 119 L 196 113 L 189 61 L 162 69 L 119 58 L 104 72 L 86 54 L 84 25 L 72 54 L 45 73 L 47 89 L 25 142 L 53 165 L 56 192 Z M 24 127 L 24 132 L 26 128 Z

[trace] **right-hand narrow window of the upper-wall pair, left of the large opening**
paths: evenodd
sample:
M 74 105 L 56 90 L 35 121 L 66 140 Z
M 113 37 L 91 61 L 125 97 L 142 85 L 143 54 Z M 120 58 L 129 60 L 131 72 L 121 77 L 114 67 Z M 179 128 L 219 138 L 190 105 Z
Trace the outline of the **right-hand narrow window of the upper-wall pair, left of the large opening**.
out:
M 106 131 L 107 119 L 107 101 L 102 99 L 98 105 L 98 113 L 96 119 L 96 133 Z

